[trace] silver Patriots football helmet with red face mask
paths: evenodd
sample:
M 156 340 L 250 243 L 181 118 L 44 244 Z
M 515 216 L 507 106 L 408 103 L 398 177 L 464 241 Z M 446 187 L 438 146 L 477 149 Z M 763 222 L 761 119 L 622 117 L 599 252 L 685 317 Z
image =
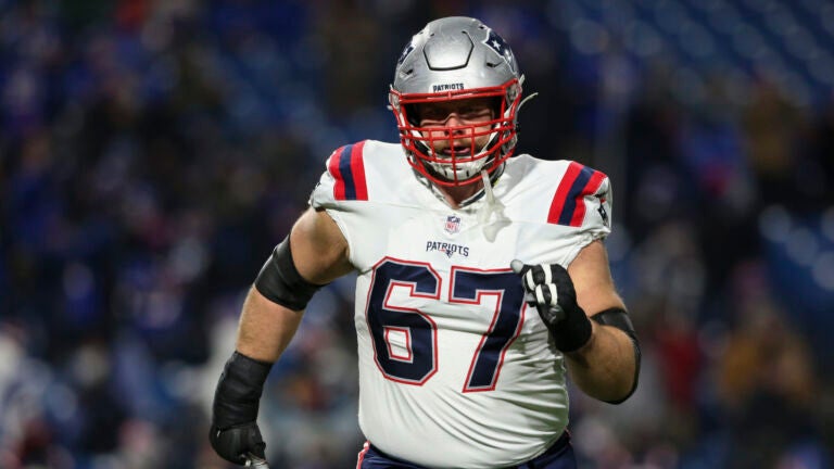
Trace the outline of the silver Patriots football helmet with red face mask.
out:
M 522 81 L 513 51 L 480 21 L 453 16 L 427 24 L 403 49 L 389 92 L 408 163 L 440 186 L 466 185 L 483 169 L 495 172 L 516 145 Z M 420 127 L 415 104 L 473 98 L 494 99 L 488 123 L 443 127 L 444 132 Z M 450 140 L 451 152 L 434 151 L 438 137 L 432 136 L 441 134 Z M 453 135 L 470 138 L 470 148 L 454 147 Z M 475 148 L 475 138 L 484 135 L 488 142 Z

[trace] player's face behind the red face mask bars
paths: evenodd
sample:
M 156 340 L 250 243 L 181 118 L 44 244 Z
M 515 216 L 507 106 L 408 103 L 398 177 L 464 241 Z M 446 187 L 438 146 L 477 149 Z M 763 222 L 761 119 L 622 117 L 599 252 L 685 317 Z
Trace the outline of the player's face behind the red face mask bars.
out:
M 475 154 L 490 140 L 492 103 L 490 98 L 475 98 L 418 104 L 422 136 L 440 157 Z

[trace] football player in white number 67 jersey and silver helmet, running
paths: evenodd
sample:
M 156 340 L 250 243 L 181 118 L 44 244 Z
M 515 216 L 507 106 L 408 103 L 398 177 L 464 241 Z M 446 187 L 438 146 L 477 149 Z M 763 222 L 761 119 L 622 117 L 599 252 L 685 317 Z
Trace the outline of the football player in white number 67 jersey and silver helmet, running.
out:
M 522 85 L 478 20 L 413 37 L 389 93 L 401 141 L 337 149 L 248 294 L 214 400 L 220 456 L 264 457 L 270 366 L 316 290 L 355 270 L 357 468 L 576 467 L 566 375 L 620 403 L 640 347 L 603 243 L 610 182 L 513 155 Z

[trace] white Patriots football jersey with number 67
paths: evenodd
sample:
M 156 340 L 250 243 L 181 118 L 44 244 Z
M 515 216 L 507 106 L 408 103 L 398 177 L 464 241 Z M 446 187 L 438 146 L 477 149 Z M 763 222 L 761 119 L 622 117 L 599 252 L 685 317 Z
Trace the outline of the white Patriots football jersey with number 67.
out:
M 333 152 L 311 197 L 358 271 L 359 426 L 420 466 L 517 465 L 568 423 L 563 355 L 509 264 L 567 267 L 606 237 L 609 181 L 576 162 L 518 155 L 493 192 L 504 219 L 481 224 L 485 197 L 453 210 L 400 144 L 366 140 Z

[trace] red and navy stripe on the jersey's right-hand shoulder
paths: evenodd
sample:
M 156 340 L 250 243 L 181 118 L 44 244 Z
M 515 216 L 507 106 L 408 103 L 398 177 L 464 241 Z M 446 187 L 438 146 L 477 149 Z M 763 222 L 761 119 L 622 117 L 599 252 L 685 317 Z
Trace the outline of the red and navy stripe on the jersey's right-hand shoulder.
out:
M 585 218 L 584 198 L 599 189 L 605 174 L 571 162 L 551 202 L 547 223 L 579 227 Z

